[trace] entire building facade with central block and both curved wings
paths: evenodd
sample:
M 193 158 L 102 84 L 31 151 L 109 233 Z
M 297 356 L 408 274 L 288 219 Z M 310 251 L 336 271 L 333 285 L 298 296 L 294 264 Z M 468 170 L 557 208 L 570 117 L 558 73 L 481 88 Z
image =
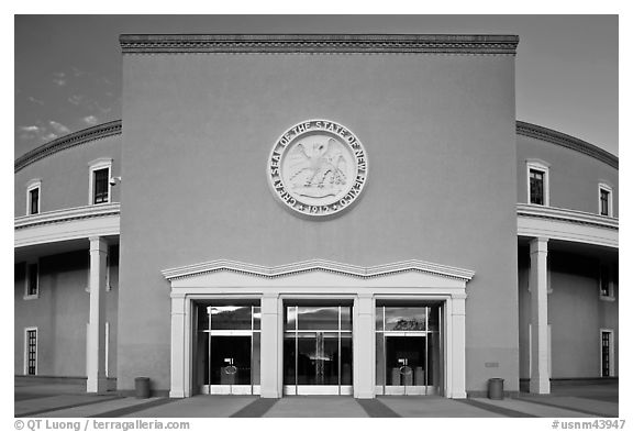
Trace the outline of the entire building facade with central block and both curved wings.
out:
M 618 158 L 506 35 L 124 35 L 123 119 L 15 160 L 15 374 L 480 395 L 618 376 Z

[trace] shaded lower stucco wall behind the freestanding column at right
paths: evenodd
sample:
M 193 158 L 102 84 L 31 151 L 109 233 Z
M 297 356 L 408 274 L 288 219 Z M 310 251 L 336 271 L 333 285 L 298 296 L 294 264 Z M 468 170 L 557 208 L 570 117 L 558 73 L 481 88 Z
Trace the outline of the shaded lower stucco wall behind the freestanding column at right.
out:
M 529 251 L 520 250 L 520 345 L 521 378 L 529 378 L 530 292 Z M 615 265 L 617 263 L 611 263 Z M 619 375 L 618 281 L 615 301 L 599 299 L 597 258 L 562 252 L 548 253 L 552 292 L 547 296 L 552 325 L 552 378 L 595 378 L 600 376 L 600 329 L 614 330 L 615 376 Z M 615 270 L 615 275 L 617 275 Z

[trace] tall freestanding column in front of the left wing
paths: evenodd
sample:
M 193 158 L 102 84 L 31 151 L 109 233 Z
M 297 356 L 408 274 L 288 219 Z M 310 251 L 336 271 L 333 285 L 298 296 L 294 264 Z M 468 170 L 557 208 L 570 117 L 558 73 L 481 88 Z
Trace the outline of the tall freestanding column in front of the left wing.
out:
M 86 391 L 108 391 L 106 377 L 106 257 L 108 243 L 103 237 L 90 237 L 90 317 L 88 322 Z

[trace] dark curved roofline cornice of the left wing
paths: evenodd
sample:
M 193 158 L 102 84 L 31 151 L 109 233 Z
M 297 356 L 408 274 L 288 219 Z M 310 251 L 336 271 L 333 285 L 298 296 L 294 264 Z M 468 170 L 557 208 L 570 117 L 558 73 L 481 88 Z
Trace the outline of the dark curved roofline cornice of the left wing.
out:
M 40 147 L 20 156 L 13 164 L 13 170 L 14 173 L 18 173 L 25 166 L 31 165 L 44 157 L 51 156 L 57 152 L 62 152 L 63 149 L 119 134 L 121 134 L 121 120 L 114 120 L 109 123 L 98 124 L 92 128 L 74 132 L 71 134 L 58 137 L 57 140 L 51 141 L 49 143 L 43 144 Z

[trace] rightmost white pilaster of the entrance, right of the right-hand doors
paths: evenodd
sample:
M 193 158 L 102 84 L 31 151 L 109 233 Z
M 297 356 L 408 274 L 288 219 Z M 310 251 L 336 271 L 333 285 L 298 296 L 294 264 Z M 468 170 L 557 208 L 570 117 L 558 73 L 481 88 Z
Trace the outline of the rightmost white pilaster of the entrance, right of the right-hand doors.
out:
M 466 295 L 453 295 L 451 307 L 451 397 L 466 398 Z

